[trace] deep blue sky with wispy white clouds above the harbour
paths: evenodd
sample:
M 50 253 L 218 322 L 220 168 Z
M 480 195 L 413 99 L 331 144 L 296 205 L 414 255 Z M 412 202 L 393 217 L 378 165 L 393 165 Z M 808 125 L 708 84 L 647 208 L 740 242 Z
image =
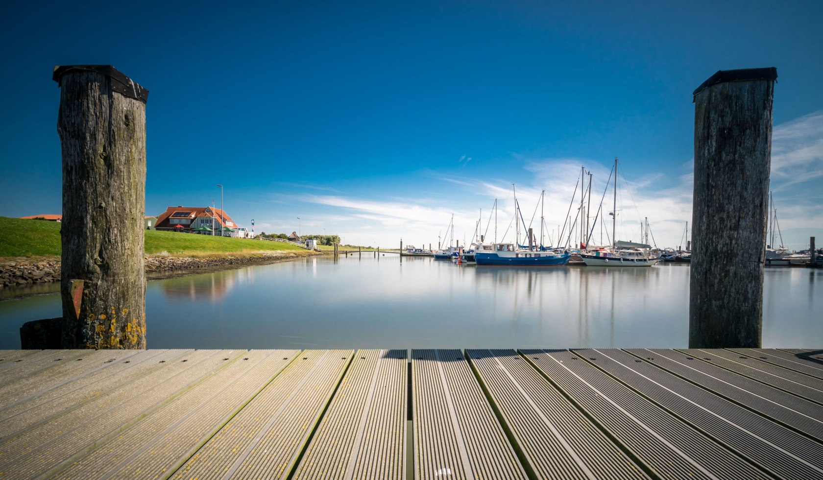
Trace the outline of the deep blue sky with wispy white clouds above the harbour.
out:
M 151 91 L 147 214 L 219 207 L 223 184 L 226 212 L 256 231 L 436 245 L 454 214 L 463 243 L 495 197 L 502 235 L 513 183 L 524 217 L 546 189 L 556 229 L 580 166 L 599 198 L 617 156 L 618 236 L 639 240 L 648 217 L 657 245 L 676 246 L 691 218 L 691 92 L 718 69 L 774 66 L 783 244 L 823 244 L 823 2 L 17 2 L 0 13 L 0 215 L 61 211 L 51 71 L 106 63 Z

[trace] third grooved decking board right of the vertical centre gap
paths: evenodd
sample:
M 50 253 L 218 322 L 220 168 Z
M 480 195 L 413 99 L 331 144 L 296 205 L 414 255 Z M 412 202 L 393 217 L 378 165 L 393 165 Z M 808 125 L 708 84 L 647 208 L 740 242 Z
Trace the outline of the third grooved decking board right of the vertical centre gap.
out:
M 523 354 L 660 478 L 769 478 L 588 360 L 568 351 Z

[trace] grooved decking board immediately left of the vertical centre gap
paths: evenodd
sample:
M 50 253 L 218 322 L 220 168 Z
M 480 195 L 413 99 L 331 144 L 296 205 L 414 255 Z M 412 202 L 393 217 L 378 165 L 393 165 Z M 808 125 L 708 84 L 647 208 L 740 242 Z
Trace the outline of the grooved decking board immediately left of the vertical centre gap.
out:
M 405 350 L 359 350 L 295 480 L 401 480 L 406 459 Z

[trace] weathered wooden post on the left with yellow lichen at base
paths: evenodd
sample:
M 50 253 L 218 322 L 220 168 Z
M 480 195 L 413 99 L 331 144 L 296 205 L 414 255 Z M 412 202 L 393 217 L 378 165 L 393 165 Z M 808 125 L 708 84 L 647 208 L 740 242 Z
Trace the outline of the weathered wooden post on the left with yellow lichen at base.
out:
M 63 347 L 146 348 L 148 91 L 110 65 L 55 67 L 63 151 Z

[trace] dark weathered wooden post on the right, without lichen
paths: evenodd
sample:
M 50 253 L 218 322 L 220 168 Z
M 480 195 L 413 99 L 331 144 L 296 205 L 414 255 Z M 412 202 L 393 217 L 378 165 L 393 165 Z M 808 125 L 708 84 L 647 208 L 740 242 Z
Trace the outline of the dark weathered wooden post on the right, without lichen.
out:
M 760 347 L 776 68 L 719 71 L 694 91 L 689 347 Z

